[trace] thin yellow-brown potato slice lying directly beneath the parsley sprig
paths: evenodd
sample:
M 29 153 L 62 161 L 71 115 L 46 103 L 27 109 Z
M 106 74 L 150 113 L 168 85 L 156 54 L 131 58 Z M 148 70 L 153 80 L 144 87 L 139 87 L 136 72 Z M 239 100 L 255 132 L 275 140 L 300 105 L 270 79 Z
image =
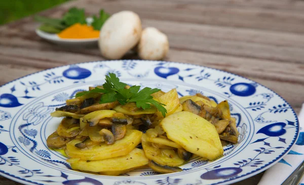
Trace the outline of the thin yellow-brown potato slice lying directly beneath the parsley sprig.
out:
M 126 115 L 140 115 L 140 114 L 154 114 L 157 112 L 157 108 L 155 106 L 151 106 L 145 110 L 139 109 L 135 104 L 128 103 L 126 105 L 118 105 L 113 110 L 117 112 L 124 113 Z

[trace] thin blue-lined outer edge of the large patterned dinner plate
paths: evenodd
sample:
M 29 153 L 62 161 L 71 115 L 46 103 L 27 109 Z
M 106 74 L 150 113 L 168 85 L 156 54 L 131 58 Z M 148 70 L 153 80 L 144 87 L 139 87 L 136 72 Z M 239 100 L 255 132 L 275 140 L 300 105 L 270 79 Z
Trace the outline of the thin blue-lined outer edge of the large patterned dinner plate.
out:
M 37 30 L 37 29 L 36 29 Z M 40 31 L 40 30 L 38 30 Z M 168 60 L 142 60 L 142 59 L 117 59 L 117 60 L 92 60 L 92 61 L 85 61 L 85 62 L 82 62 L 82 63 L 75 63 L 75 64 L 68 64 L 68 65 L 63 65 L 63 66 L 58 66 L 58 67 L 54 67 L 54 68 L 49 68 L 49 69 L 45 69 L 45 70 L 41 70 L 41 71 L 37 71 L 37 72 L 34 72 L 34 73 L 31 73 L 31 74 L 28 74 L 28 75 L 25 75 L 25 76 L 22 76 L 22 77 L 19 77 L 17 79 L 14 79 L 10 82 L 7 82 L 3 85 L 0 86 L 0 89 L 3 87 L 3 86 L 6 86 L 10 83 L 13 83 L 17 80 L 20 80 L 22 78 L 25 78 L 25 77 L 28 77 L 28 76 L 31 76 L 31 75 L 35 75 L 35 74 L 39 74 L 41 72 L 47 72 L 49 70 L 53 70 L 53 69 L 57 69 L 57 68 L 61 68 L 61 67 L 68 67 L 68 66 L 71 66 L 71 65 L 77 65 L 77 64 L 87 64 L 87 63 L 105 63 L 105 62 L 111 62 L 111 61 L 118 61 L 118 62 L 122 62 L 122 61 L 125 61 L 125 60 L 132 60 L 132 61 L 143 61 L 143 62 L 154 62 L 154 63 L 171 63 L 171 64 L 182 64 L 182 65 L 190 65 L 190 66 L 196 66 L 196 67 L 204 67 L 204 68 L 207 68 L 207 69 L 211 69 L 211 70 L 215 70 L 215 71 L 219 71 L 219 72 L 222 72 L 222 73 L 226 73 L 226 74 L 231 74 L 231 75 L 235 75 L 237 77 L 240 77 L 242 79 L 246 79 L 246 80 L 249 80 L 249 81 L 252 81 L 260 86 L 262 86 L 263 88 L 271 91 L 272 93 L 274 93 L 275 95 L 277 95 L 279 98 L 281 98 L 287 105 L 289 105 L 291 107 L 291 110 L 292 110 L 292 113 L 293 115 L 295 116 L 295 122 L 296 122 L 296 137 L 293 138 L 292 140 L 292 143 L 290 145 L 287 146 L 286 150 L 284 150 L 278 157 L 276 157 L 275 159 L 271 160 L 270 162 L 268 162 L 267 164 L 264 164 L 263 166 L 259 167 L 259 168 L 256 168 L 255 170 L 253 171 L 250 171 L 248 173 L 245 173 L 243 175 L 240 175 L 240 176 L 237 176 L 237 177 L 234 177 L 232 179 L 224 179 L 222 181 L 219 181 L 219 182 L 216 182 L 216 183 L 212 183 L 210 185 L 215 185 L 215 184 L 222 184 L 222 183 L 225 183 L 225 182 L 229 182 L 229 183 L 234 183 L 234 182 L 238 182 L 238 181 L 241 181 L 241 180 L 244 180 L 244 179 L 247 179 L 251 176 L 254 176 L 264 170 L 267 170 L 269 169 L 271 166 L 275 165 L 277 162 L 279 162 L 279 160 L 281 160 L 282 158 L 284 158 L 288 152 L 291 150 L 292 146 L 295 144 L 295 142 L 297 141 L 298 137 L 299 137 L 299 120 L 298 120 L 298 116 L 297 114 L 295 113 L 293 107 L 281 96 L 279 95 L 277 92 L 275 92 L 274 90 L 254 81 L 254 80 L 251 80 L 251 79 L 248 79 L 246 77 L 243 77 L 243 76 L 240 76 L 238 74 L 235 74 L 235 73 L 231 73 L 231 72 L 227 72 L 227 71 L 223 71 L 223 70 L 219 70 L 219 69 L 216 69 L 216 68 L 211 68 L 211 67 L 206 67 L 206 66 L 202 66 L 202 65 L 197 65 L 197 64 L 192 64 L 192 63 L 185 63 L 185 62 L 177 62 L 177 61 L 168 61 Z M 31 180 L 27 180 L 27 179 L 24 179 L 22 177 L 18 177 L 16 175 L 13 175 L 13 174 L 10 174 L 10 173 L 7 173 L 5 172 L 4 170 L 0 170 L 0 174 L 6 178 L 9 178 L 11 180 L 14 180 L 14 181 L 17 181 L 17 182 L 20 182 L 20 183 L 24 183 L 26 182 L 26 184 L 43 184 L 43 183 L 38 183 L 38 182 L 33 182 Z M 245 177 L 245 178 L 244 178 Z

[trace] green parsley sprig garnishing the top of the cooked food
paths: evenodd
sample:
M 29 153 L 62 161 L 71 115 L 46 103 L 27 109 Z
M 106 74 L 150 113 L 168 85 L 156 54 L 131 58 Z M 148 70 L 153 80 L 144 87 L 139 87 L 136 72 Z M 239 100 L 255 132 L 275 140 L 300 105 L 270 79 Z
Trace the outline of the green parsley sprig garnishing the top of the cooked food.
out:
M 142 90 L 140 86 L 132 86 L 129 89 L 125 89 L 127 84 L 120 82 L 119 78 L 115 74 L 109 73 L 105 76 L 105 83 L 103 84 L 103 89 L 95 87 L 90 91 L 84 91 L 76 94 L 76 97 L 83 96 L 89 93 L 103 93 L 99 103 L 110 103 L 113 101 L 118 101 L 120 104 L 124 105 L 126 103 L 135 102 L 138 108 L 147 109 L 154 105 L 165 117 L 167 110 L 162 104 L 153 99 L 151 94 L 160 91 L 160 89 L 151 89 L 145 87 Z

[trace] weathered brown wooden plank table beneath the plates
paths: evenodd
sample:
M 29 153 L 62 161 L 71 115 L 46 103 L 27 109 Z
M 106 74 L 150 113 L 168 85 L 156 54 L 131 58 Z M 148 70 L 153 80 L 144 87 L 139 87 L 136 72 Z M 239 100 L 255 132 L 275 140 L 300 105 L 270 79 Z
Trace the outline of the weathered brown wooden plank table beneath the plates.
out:
M 298 113 L 304 101 L 304 1 L 299 0 L 78 0 L 41 15 L 59 17 L 70 7 L 96 14 L 131 10 L 143 27 L 169 37 L 165 60 L 217 68 L 261 83 Z M 104 60 L 96 48 L 67 48 L 38 37 L 32 17 L 0 27 L 0 85 L 57 66 Z M 136 56 L 126 56 L 136 58 Z M 257 184 L 262 173 L 236 184 Z M 0 177 L 0 184 L 19 184 Z

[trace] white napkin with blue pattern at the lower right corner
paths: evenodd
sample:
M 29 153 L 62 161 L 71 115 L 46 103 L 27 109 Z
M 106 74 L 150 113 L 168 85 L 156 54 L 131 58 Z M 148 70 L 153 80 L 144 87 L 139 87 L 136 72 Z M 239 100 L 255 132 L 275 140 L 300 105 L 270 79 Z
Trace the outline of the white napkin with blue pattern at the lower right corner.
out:
M 300 132 L 304 132 L 304 104 L 302 105 L 298 118 L 301 128 Z M 303 137 L 304 135 L 300 135 L 298 141 L 299 139 L 303 140 Z M 282 184 L 303 160 L 304 145 L 293 145 L 290 152 L 280 162 L 265 171 L 258 185 Z M 304 178 L 300 184 L 304 185 Z

